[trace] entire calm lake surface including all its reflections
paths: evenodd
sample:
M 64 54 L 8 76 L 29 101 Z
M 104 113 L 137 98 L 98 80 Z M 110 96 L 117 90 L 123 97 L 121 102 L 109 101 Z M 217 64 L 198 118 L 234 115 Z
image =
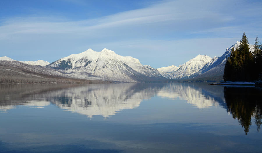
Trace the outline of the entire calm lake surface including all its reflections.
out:
M 262 152 L 260 88 L 0 87 L 0 152 Z

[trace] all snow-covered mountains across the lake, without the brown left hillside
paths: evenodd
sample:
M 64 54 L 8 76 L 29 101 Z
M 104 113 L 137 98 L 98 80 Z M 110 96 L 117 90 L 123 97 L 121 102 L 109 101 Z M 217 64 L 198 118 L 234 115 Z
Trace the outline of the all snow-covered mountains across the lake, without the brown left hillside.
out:
M 104 81 L 121 81 L 121 82 L 140 82 L 155 81 L 165 79 L 179 80 L 222 80 L 226 58 L 230 56 L 233 47 L 237 47 L 240 42 L 227 48 L 225 53 L 220 57 L 210 58 L 207 55 L 197 55 L 186 63 L 179 66 L 168 66 L 153 68 L 149 65 L 142 65 L 138 59 L 131 56 L 120 56 L 114 51 L 103 49 L 100 52 L 88 49 L 79 54 L 61 58 L 49 63 L 47 61 L 16 61 L 12 58 L 3 56 L 0 61 L 16 61 L 28 65 L 28 70 L 34 70 L 29 65 L 44 66 L 45 71 L 58 72 L 59 76 L 104 80 Z M 250 50 L 254 51 L 254 45 L 250 45 Z M 7 64 L 6 65 L 12 65 Z M 13 64 L 14 65 L 14 64 Z M 18 65 L 18 66 L 17 66 Z M 20 64 L 21 65 L 21 64 Z M 15 64 L 19 67 L 19 64 Z M 23 70 L 26 66 L 23 65 Z

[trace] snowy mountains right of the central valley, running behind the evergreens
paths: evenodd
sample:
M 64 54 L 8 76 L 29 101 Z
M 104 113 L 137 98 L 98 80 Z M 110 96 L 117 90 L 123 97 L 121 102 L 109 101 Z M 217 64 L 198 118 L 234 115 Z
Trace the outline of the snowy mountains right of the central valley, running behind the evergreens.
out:
M 157 68 L 157 70 L 167 79 L 222 80 L 226 58 L 230 56 L 232 48 L 236 48 L 239 44 L 240 42 L 237 41 L 220 57 L 215 56 L 211 59 L 208 56 L 198 55 L 174 71 L 168 71 L 167 67 Z M 249 45 L 249 48 L 250 51 L 254 51 L 254 45 Z

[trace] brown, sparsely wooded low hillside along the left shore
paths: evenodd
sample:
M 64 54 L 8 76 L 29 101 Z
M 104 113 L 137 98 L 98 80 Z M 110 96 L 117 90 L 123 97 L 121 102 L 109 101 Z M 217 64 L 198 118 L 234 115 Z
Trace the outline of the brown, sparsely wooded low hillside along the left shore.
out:
M 94 81 L 70 78 L 54 69 L 39 65 L 27 65 L 19 61 L 0 61 L 1 83 L 110 83 L 107 81 Z

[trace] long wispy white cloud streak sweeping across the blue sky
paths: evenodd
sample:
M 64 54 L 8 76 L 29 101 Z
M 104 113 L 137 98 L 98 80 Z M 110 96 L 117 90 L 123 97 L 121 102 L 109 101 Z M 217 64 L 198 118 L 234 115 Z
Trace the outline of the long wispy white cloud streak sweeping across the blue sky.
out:
M 191 6 L 196 5 L 194 7 L 197 7 L 197 4 L 193 3 Z M 148 24 L 162 24 L 163 22 L 181 28 L 179 25 L 190 24 L 195 20 L 215 24 L 215 22 L 225 22 L 232 19 L 230 16 L 224 16 L 210 10 L 192 9 L 194 7 L 188 9 L 182 1 L 167 1 L 154 4 L 148 8 L 82 21 L 59 22 L 61 19 L 57 19 L 58 22 L 56 22 L 54 18 L 47 17 L 16 18 L 4 22 L 0 27 L 0 31 L 6 33 L 6 35 L 14 33 L 83 33 L 94 29 L 117 28 L 119 26 L 148 26 Z

